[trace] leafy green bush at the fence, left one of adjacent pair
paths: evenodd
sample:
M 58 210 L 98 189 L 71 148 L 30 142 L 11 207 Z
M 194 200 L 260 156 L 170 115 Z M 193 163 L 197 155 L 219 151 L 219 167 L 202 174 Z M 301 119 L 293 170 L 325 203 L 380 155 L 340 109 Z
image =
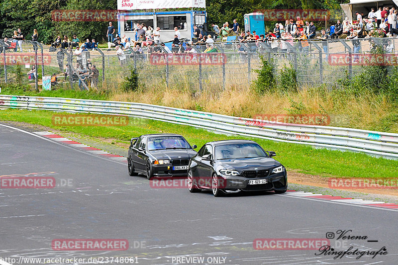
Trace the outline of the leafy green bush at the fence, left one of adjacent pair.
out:
M 273 60 L 266 60 L 263 55 L 259 55 L 261 60 L 261 68 L 254 69 L 253 72 L 258 74 L 257 80 L 253 81 L 254 90 L 258 94 L 264 94 L 267 91 L 275 90 L 276 79 L 274 76 Z

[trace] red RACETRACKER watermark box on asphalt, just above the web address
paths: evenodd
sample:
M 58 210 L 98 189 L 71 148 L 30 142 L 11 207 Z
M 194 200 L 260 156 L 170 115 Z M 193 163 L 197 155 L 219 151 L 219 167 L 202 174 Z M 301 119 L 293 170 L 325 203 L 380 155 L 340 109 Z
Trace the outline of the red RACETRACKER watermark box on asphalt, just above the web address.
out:
M 128 250 L 127 239 L 54 239 L 51 248 L 56 251 L 123 251 Z

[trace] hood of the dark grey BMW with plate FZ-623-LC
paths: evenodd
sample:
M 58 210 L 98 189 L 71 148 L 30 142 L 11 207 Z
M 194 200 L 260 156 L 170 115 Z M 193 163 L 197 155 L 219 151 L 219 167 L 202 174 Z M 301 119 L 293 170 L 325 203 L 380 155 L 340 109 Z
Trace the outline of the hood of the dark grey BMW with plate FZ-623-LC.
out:
M 279 167 L 282 164 L 273 158 L 241 158 L 241 159 L 229 159 L 229 160 L 217 160 L 217 163 L 229 170 L 258 170 L 269 169 L 273 167 Z

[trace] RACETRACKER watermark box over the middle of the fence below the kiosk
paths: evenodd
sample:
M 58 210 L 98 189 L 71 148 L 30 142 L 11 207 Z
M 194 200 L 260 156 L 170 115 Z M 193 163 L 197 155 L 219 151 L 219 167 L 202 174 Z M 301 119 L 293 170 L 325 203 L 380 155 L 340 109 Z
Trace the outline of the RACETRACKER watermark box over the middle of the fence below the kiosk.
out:
M 222 65 L 227 61 L 223 53 L 159 53 L 149 56 L 151 65 Z

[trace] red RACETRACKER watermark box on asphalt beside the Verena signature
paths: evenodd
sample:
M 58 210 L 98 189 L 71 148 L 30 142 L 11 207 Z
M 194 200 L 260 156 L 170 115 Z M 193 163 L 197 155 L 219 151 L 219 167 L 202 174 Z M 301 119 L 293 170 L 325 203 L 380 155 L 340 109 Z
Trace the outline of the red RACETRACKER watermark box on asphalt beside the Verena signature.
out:
M 319 250 L 330 246 L 324 238 L 257 238 L 253 241 L 255 250 Z

